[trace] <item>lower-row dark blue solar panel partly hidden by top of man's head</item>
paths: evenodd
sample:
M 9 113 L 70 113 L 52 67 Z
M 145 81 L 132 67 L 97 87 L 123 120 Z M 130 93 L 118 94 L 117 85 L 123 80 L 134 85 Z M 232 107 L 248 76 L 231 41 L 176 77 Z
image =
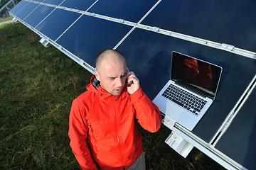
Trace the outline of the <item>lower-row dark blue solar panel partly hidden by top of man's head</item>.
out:
M 82 16 L 57 43 L 95 67 L 97 55 L 112 49 L 130 29 L 119 23 Z

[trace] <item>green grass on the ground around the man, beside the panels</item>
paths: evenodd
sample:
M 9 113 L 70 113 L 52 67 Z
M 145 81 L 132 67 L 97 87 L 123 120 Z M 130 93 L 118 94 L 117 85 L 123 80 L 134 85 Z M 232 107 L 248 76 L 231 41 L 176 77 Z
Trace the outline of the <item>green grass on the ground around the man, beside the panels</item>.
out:
M 21 23 L 0 27 L 0 169 L 80 169 L 70 149 L 68 117 L 92 74 L 43 47 Z M 139 127 L 147 169 L 223 169 L 198 149 L 186 159 L 164 143 L 171 131 Z

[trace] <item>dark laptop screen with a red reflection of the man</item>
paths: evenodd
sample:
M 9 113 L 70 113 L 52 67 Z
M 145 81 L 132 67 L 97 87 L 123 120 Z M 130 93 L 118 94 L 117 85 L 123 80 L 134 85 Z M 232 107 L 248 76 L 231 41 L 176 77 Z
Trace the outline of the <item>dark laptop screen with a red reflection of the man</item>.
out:
M 173 52 L 171 80 L 201 91 L 210 98 L 215 98 L 221 72 L 222 68 L 215 64 Z

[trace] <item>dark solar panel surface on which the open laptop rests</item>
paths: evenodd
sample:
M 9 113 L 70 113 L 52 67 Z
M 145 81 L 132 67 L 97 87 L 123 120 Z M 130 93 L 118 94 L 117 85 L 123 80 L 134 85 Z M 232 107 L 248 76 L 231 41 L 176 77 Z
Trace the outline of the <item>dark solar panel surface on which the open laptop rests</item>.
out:
M 170 78 L 172 51 L 223 67 L 215 101 L 193 130 L 206 142 L 215 135 L 256 74 L 256 60 L 138 28 L 117 50 L 124 54 L 127 66 L 151 100 Z

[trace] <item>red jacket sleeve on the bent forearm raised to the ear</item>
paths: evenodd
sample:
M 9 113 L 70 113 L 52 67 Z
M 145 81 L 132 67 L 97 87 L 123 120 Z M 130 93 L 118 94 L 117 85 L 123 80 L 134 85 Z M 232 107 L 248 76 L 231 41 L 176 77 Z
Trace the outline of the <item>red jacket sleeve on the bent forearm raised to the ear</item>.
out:
M 161 113 L 159 108 L 144 94 L 139 87 L 134 94 L 130 95 L 134 109 L 135 118 L 142 128 L 149 132 L 156 132 L 161 127 Z

